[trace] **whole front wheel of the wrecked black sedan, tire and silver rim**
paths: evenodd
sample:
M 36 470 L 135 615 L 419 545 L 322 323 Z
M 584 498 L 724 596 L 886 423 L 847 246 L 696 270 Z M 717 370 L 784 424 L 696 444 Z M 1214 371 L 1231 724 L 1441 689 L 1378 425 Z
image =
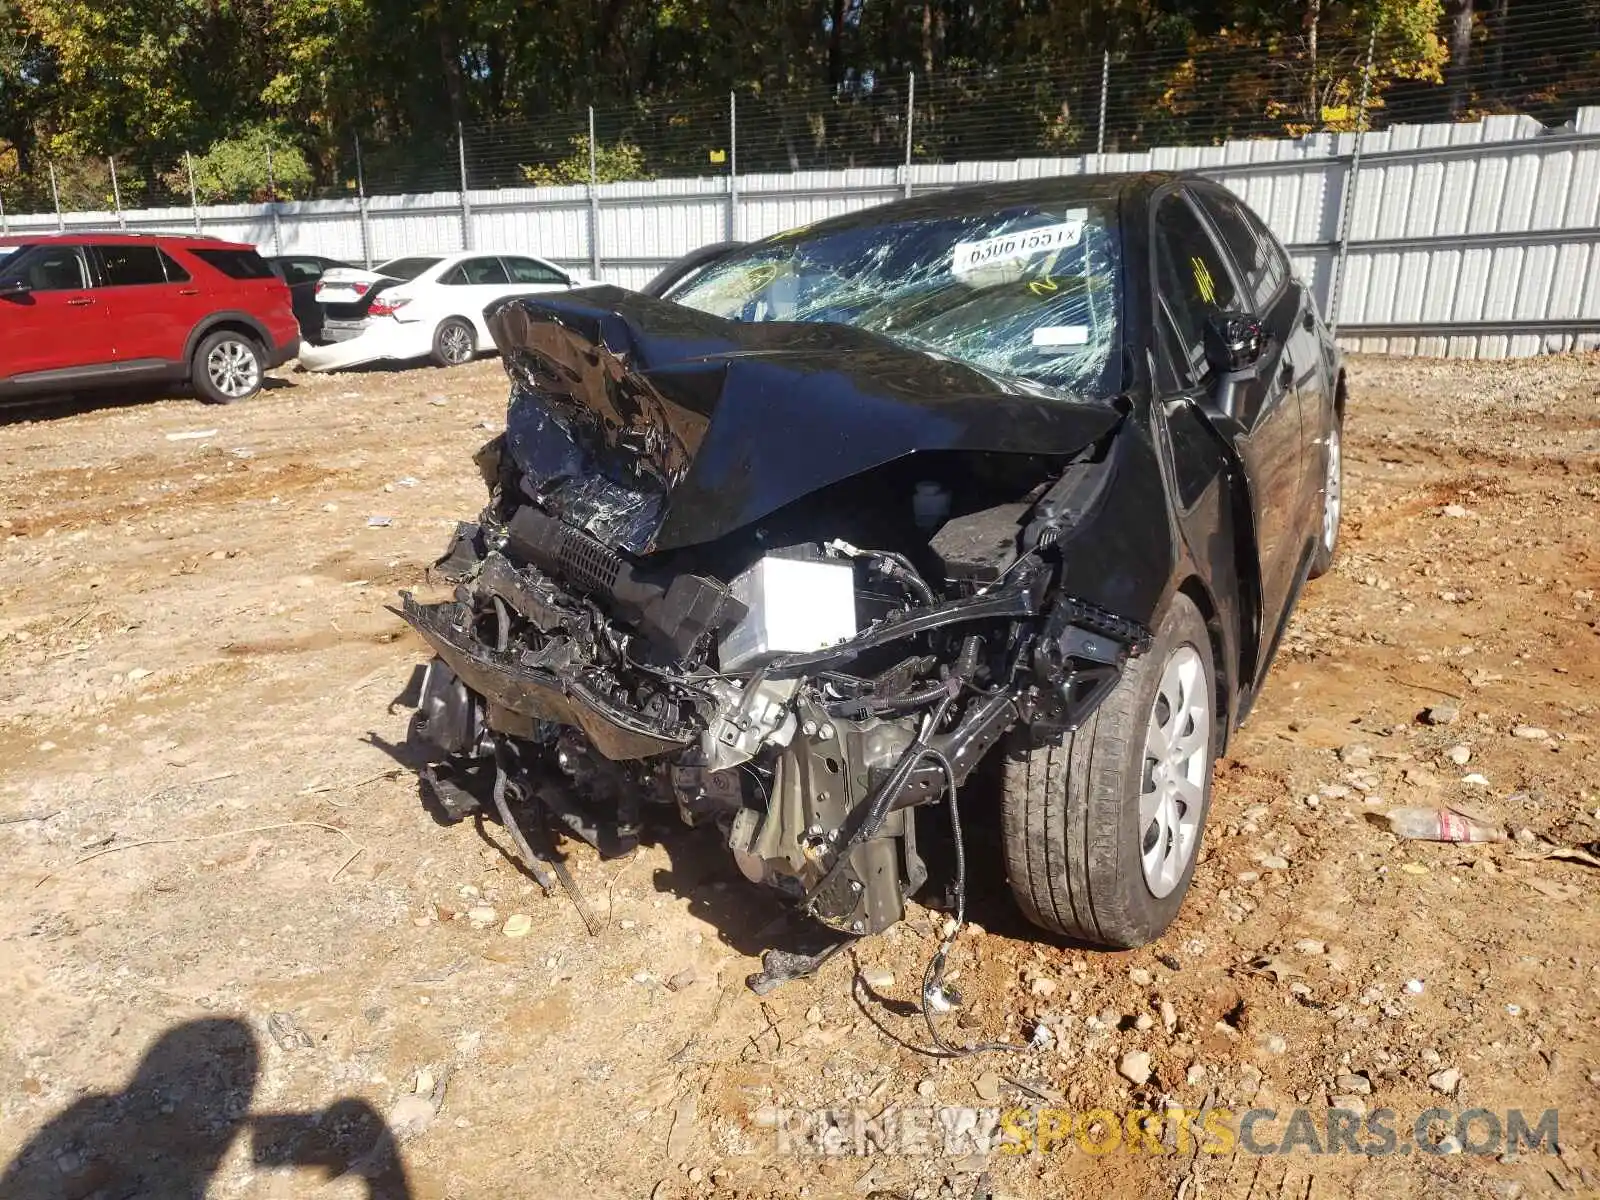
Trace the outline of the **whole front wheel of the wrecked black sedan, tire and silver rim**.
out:
M 1179 594 L 1077 733 L 1008 755 L 1006 877 L 1030 922 L 1117 947 L 1171 925 L 1211 803 L 1214 680 L 1205 619 Z

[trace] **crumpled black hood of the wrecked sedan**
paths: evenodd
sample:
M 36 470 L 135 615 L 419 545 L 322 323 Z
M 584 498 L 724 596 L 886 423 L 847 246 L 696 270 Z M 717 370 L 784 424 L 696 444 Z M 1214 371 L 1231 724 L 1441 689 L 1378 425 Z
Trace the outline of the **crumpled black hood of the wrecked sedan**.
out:
M 525 491 L 632 554 L 715 541 L 906 454 L 1069 456 L 1125 411 L 845 325 L 728 322 L 613 286 L 486 318 Z

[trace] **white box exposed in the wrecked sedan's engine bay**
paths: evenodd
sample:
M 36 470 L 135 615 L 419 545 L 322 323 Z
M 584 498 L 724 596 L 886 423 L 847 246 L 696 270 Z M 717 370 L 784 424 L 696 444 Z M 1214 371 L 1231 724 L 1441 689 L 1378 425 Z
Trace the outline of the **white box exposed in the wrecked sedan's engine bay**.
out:
M 717 646 L 723 670 L 824 650 L 856 635 L 856 570 L 850 563 L 768 555 L 730 590 L 750 611 Z

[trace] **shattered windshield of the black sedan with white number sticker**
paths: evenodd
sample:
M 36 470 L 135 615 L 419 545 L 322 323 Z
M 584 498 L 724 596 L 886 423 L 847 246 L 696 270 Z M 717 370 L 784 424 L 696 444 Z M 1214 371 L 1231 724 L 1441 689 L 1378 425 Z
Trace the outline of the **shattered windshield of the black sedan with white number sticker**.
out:
M 794 230 L 672 294 L 738 322 L 856 325 L 1078 395 L 1120 386 L 1122 262 L 1110 202 Z

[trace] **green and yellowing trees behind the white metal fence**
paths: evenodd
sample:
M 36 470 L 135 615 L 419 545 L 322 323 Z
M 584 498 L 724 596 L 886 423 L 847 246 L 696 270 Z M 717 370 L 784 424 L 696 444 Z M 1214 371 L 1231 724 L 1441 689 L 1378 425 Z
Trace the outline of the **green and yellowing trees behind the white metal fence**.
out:
M 46 157 L 85 198 L 106 155 L 173 187 L 211 147 L 208 198 L 262 195 L 269 128 L 294 195 L 350 179 L 357 138 L 370 190 L 453 187 L 458 128 L 474 186 L 582 182 L 587 106 L 605 181 L 720 171 L 730 91 L 744 171 L 882 165 L 910 72 L 920 158 L 1067 154 L 1107 50 L 1107 149 L 1347 130 L 1374 26 L 1379 112 L 1565 120 L 1600 99 L 1594 3 L 0 0 L 0 194 L 37 203 Z

